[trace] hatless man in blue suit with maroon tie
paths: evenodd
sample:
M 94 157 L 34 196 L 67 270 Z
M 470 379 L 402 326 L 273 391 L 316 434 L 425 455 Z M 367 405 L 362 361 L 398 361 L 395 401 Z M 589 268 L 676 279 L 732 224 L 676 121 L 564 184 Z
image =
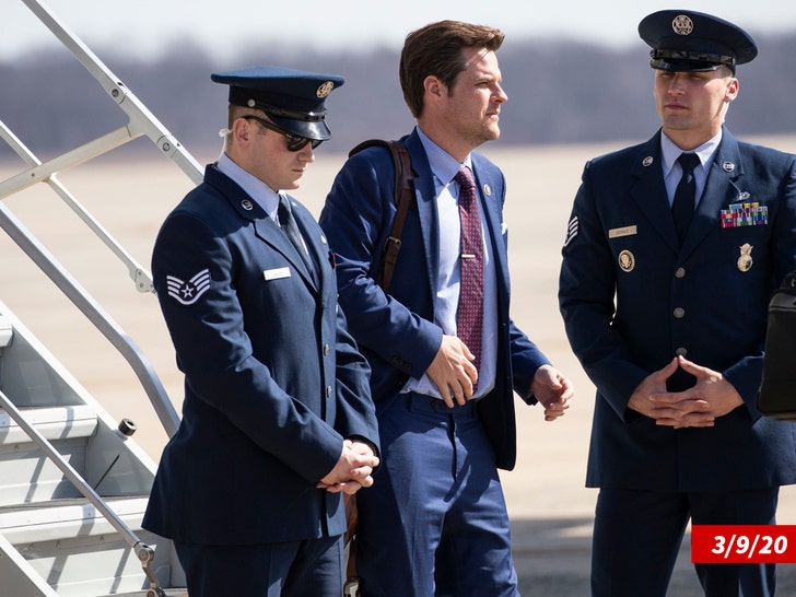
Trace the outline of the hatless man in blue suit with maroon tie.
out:
M 572 395 L 510 318 L 505 182 L 472 151 L 500 134 L 502 42 L 499 30 L 453 21 L 407 37 L 400 80 L 418 126 L 400 143 L 417 204 L 388 293 L 376 283 L 396 214 L 384 148 L 347 162 L 319 219 L 379 419 L 382 467 L 358 495 L 365 596 L 516 595 L 497 476 L 515 463 L 513 391 L 542 402 L 547 420 Z

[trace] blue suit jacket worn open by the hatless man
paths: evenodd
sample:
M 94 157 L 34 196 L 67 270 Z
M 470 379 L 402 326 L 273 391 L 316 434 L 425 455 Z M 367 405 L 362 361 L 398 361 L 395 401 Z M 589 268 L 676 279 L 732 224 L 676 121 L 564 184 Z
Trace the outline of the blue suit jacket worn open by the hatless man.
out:
M 371 387 L 378 412 L 398 395 L 410 376 L 420 378 L 425 373 L 443 336 L 434 323 L 440 255 L 434 176 L 417 131 L 400 142 L 411 156 L 417 206 L 410 209 L 403 226 L 389 294 L 375 283 L 384 243 L 396 213 L 389 152 L 376 147 L 350 157 L 338 174 L 319 218 L 337 258 L 340 304 L 351 332 L 371 363 Z M 508 315 L 503 174 L 475 152 L 472 166 L 492 242 L 499 311 L 495 387 L 479 401 L 478 410 L 495 447 L 497 466 L 511 469 L 516 460 L 513 390 L 528 403 L 535 403 L 530 383 L 537 368 L 548 361 Z

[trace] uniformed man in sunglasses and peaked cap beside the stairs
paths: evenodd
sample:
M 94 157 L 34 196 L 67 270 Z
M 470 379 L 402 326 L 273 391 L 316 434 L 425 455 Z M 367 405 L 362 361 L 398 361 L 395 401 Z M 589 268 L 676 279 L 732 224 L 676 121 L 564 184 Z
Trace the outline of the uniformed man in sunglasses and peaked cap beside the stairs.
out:
M 330 137 L 325 98 L 343 80 L 212 80 L 230 85 L 224 152 L 152 257 L 185 400 L 143 525 L 174 539 L 191 597 L 339 597 L 341 492 L 372 484 L 378 429 L 329 245 L 281 191 Z

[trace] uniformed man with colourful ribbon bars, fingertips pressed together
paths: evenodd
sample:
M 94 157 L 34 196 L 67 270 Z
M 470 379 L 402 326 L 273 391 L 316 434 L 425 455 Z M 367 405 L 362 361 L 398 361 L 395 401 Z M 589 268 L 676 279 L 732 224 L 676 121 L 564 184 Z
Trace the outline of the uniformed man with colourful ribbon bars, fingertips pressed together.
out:
M 736 66 L 757 55 L 746 32 L 666 10 L 639 33 L 663 127 L 586 164 L 560 276 L 597 388 L 594 596 L 666 595 L 689 519 L 774 524 L 796 482 L 796 426 L 756 408 L 768 303 L 796 269 L 796 157 L 724 126 Z M 695 569 L 705 595 L 774 593 L 773 564 Z

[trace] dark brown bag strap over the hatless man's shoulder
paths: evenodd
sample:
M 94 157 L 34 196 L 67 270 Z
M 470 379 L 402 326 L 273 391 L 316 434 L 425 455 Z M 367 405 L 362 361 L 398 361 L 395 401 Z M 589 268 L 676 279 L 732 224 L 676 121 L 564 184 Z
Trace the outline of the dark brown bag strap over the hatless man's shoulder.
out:
M 382 286 L 385 293 L 389 292 L 393 283 L 393 270 L 398 261 L 398 253 L 401 250 L 401 233 L 403 232 L 403 222 L 407 219 L 409 208 L 414 202 L 414 184 L 412 178 L 412 163 L 409 159 L 409 152 L 401 143 L 397 141 L 387 141 L 384 139 L 368 139 L 363 141 L 349 152 L 349 157 L 365 148 L 373 145 L 382 145 L 389 150 L 393 156 L 393 166 L 395 169 L 395 202 L 396 214 L 393 220 L 393 230 L 384 243 L 384 251 L 382 253 L 382 261 L 378 266 L 378 274 L 376 283 Z

